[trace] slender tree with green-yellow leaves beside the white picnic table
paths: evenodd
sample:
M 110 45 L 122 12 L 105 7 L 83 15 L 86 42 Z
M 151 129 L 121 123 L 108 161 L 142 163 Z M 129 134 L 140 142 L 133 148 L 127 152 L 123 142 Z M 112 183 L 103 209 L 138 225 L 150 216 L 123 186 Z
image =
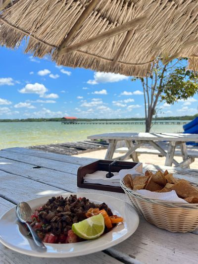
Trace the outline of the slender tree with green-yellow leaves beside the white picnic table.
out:
M 175 59 L 163 65 L 157 61 L 149 77 L 139 79 L 143 86 L 145 101 L 146 132 L 150 131 L 153 116 L 157 115 L 158 104 L 162 101 L 174 104 L 198 93 L 197 72 L 186 70 L 187 59 Z

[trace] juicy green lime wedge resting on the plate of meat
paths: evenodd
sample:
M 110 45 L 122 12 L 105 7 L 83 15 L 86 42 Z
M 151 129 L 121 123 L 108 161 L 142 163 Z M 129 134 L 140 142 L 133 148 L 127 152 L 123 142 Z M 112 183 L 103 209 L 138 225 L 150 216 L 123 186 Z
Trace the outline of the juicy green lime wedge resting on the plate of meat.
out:
M 101 213 L 72 224 L 73 232 L 84 239 L 94 239 L 104 232 L 104 217 Z

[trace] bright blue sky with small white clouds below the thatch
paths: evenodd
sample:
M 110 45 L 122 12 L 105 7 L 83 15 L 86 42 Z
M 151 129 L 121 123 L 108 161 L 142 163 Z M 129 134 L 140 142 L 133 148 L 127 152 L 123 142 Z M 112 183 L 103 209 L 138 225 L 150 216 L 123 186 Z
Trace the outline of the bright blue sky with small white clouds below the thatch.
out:
M 161 103 L 159 116 L 193 115 L 198 96 L 173 106 Z M 0 48 L 0 119 L 76 116 L 144 117 L 140 81 L 92 70 L 58 67 L 50 59 Z

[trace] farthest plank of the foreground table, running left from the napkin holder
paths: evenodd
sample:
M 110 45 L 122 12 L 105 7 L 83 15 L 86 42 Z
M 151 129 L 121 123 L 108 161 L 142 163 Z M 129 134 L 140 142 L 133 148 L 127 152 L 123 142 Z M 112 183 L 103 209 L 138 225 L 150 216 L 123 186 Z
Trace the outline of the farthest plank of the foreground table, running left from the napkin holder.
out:
M 3 151 L 16 152 L 19 154 L 25 154 L 25 155 L 35 156 L 39 158 L 48 158 L 52 160 L 58 160 L 58 161 L 73 163 L 73 164 L 78 164 L 78 165 L 85 165 L 90 162 L 94 162 L 96 160 L 95 158 L 76 158 L 76 157 L 71 157 L 71 156 L 66 156 L 66 155 L 61 155 L 61 154 L 46 153 L 43 151 L 35 151 L 32 149 L 25 149 L 25 148 L 9 148 L 9 149 L 3 149 Z

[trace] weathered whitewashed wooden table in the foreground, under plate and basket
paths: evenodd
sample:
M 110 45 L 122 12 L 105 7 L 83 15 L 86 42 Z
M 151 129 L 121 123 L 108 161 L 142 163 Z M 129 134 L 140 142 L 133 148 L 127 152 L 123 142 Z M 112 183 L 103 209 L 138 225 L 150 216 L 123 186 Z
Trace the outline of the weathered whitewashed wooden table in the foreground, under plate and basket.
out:
M 78 188 L 76 174 L 80 165 L 94 159 L 45 153 L 23 148 L 0 151 L 0 214 L 21 201 L 65 192 L 92 192 L 128 202 L 125 194 Z M 145 168 L 156 169 L 146 165 Z M 198 170 L 162 166 L 177 177 L 198 182 Z M 25 256 L 0 244 L 2 264 L 197 264 L 198 235 L 171 233 L 149 224 L 142 217 L 136 232 L 126 241 L 104 252 L 70 259 L 42 259 Z

